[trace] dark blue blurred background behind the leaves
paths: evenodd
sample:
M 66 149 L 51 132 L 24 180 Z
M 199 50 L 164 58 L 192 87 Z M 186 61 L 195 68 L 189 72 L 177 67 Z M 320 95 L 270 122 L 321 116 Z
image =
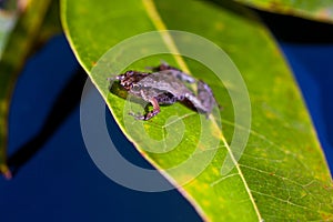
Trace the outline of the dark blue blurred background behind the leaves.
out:
M 263 19 L 300 83 L 332 171 L 333 41 L 325 34 L 332 26 L 324 26 L 324 32 L 320 28 L 317 34 L 322 33 L 322 38 L 311 37 L 313 33 L 301 38 L 296 30 L 283 31 L 271 16 L 264 13 Z M 295 20 L 283 19 L 289 23 Z M 306 23 L 305 28 L 322 26 L 301 22 Z M 0 179 L 0 220 L 200 221 L 176 191 L 132 191 L 113 183 L 97 169 L 84 148 L 79 121 L 84 80 L 85 74 L 63 36 L 51 39 L 24 67 L 9 121 L 9 163 L 16 175 L 11 181 Z M 148 165 L 112 124 L 110 115 L 108 121 L 124 154 Z

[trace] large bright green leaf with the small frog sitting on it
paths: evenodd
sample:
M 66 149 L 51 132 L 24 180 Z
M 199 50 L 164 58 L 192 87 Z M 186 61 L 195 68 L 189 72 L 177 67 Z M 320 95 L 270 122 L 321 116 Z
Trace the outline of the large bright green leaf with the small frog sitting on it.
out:
M 121 130 L 139 152 L 178 186 L 203 219 L 333 219 L 332 179 L 309 113 L 283 57 L 265 27 L 251 11 L 232 2 L 215 4 L 191 0 L 103 0 L 99 3 L 62 0 L 61 3 L 62 23 L 70 44 Z M 131 63 L 129 48 L 115 46 L 137 34 L 163 29 L 188 31 L 213 41 L 228 52 L 241 71 L 252 107 L 252 127 L 243 153 L 238 153 L 238 148 L 231 149 L 235 132 L 248 131 L 244 129 L 246 125 L 235 122 L 236 110 L 233 110 L 236 101 L 232 100 L 232 93 L 242 85 L 228 81 L 221 83 L 204 67 L 208 64 L 179 56 L 150 56 Z M 176 44 L 174 36 L 168 33 L 171 32 L 162 32 L 157 41 L 162 42 L 160 50 L 181 51 L 183 46 Z M 154 39 L 151 43 L 158 46 Z M 109 51 L 102 57 L 110 48 L 123 49 L 123 52 L 110 58 Z M 143 50 L 143 54 L 152 52 L 150 48 Z M 200 51 L 195 52 L 200 56 Z M 143 70 L 144 67 L 157 65 L 160 59 L 182 70 L 189 68 L 195 78 L 210 84 L 223 107 L 223 111 L 218 112 L 223 118 L 223 130 L 219 119 L 210 117 L 204 121 L 204 118 L 200 119 L 203 115 L 179 103 L 162 107 L 161 113 L 147 122 L 128 115 L 128 107 L 140 105 L 122 99 L 117 89 L 111 89 L 113 93 L 109 92 L 110 85 L 105 81 L 112 73 L 109 71 L 121 70 L 121 64 L 129 64 L 127 70 Z M 221 58 L 221 65 L 224 64 Z M 173 144 L 178 145 L 169 150 Z M 196 152 L 200 149 L 201 152 Z M 213 160 L 204 171 L 183 184 L 186 178 L 193 176 L 195 163 L 201 165 L 201 161 L 206 161 L 211 154 Z M 172 167 L 188 159 L 194 164 L 172 171 Z M 224 160 L 235 164 L 231 172 L 224 171 L 228 174 L 221 174 Z

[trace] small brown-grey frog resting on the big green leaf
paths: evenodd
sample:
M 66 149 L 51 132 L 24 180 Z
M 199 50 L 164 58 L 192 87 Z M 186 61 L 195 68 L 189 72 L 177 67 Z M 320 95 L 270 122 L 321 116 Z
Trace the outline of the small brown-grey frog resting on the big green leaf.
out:
M 202 80 L 196 80 L 182 70 L 162 62 L 150 69 L 150 72 L 129 70 L 112 78 L 118 80 L 120 85 L 137 98 L 151 104 L 143 114 L 129 113 L 137 120 L 150 120 L 161 112 L 161 104 L 173 104 L 182 102 L 188 107 L 209 117 L 216 104 L 211 88 Z M 193 93 L 188 84 L 196 85 L 196 93 Z

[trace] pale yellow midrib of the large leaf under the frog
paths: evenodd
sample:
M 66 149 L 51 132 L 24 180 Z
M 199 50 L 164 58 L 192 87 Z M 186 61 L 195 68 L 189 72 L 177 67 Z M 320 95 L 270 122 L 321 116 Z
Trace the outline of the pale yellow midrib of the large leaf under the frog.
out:
M 154 6 L 153 0 L 142 0 L 143 3 L 143 8 L 148 14 L 148 17 L 150 18 L 150 20 L 152 21 L 153 26 L 157 28 L 158 31 L 165 31 L 167 26 L 164 24 L 162 18 L 160 17 L 157 7 Z M 162 32 L 161 33 L 163 42 L 165 43 L 165 46 L 169 48 L 170 52 L 172 53 L 173 58 L 175 59 L 176 63 L 179 64 L 179 67 L 181 68 L 181 70 L 184 70 L 188 73 L 190 72 L 190 69 L 188 68 L 186 63 L 184 62 L 183 58 L 180 56 L 180 52 L 172 39 L 172 37 L 168 33 L 168 32 Z M 263 221 L 263 218 L 261 216 L 261 213 L 259 211 L 259 208 L 254 201 L 254 198 L 252 195 L 252 192 L 248 185 L 248 182 L 244 178 L 244 174 L 240 168 L 240 164 L 238 163 L 238 161 L 235 160 L 235 157 L 233 155 L 230 145 L 228 144 L 222 130 L 219 128 L 216 121 L 214 120 L 213 115 L 210 117 L 211 121 L 213 122 L 213 127 L 216 128 L 218 132 L 219 132 L 219 138 L 221 139 L 221 141 L 224 143 L 228 153 L 230 154 L 230 158 L 232 160 L 232 162 L 234 163 L 239 175 L 241 176 L 241 180 L 243 182 L 243 185 L 245 188 L 246 193 L 249 194 L 250 201 L 253 205 L 253 209 L 258 215 L 259 221 Z M 194 203 L 195 204 L 195 203 Z

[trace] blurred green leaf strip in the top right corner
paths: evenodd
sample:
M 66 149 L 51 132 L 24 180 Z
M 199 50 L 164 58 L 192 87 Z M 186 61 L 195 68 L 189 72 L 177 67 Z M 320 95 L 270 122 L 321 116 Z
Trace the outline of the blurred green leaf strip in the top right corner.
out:
M 333 1 L 306 0 L 235 0 L 265 11 L 291 14 L 324 22 L 333 22 Z

